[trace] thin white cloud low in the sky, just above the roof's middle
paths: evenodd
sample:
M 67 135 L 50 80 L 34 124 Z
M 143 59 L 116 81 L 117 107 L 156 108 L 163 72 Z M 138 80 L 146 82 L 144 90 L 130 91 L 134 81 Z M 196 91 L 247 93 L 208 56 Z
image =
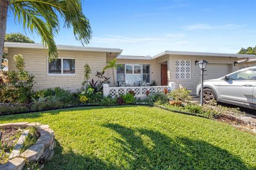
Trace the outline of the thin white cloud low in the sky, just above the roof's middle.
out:
M 94 37 L 94 43 L 157 43 L 162 41 L 163 38 L 134 38 L 123 36 L 107 36 L 107 37 Z

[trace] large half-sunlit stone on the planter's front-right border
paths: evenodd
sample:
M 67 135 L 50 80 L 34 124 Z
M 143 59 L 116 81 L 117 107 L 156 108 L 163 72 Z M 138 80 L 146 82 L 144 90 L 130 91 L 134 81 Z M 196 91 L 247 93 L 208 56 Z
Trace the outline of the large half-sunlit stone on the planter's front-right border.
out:
M 24 151 L 22 154 L 20 154 L 21 157 L 26 158 L 28 162 L 31 161 L 37 161 L 42 155 L 44 154 L 44 145 L 38 144 L 33 145 L 26 151 Z

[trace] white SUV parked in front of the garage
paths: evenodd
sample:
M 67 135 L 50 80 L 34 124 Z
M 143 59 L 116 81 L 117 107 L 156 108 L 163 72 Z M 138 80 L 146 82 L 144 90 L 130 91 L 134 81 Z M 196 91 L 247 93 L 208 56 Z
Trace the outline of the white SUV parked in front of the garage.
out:
M 256 109 L 256 66 L 204 81 L 204 102 L 211 100 Z M 201 94 L 201 84 L 196 95 Z

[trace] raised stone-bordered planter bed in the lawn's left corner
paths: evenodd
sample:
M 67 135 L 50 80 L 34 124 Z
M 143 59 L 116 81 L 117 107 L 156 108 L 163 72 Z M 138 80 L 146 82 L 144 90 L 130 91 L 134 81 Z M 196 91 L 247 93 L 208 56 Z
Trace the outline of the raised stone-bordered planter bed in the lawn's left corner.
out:
M 42 168 L 53 156 L 54 133 L 49 125 L 17 122 L 0 124 L 0 169 Z

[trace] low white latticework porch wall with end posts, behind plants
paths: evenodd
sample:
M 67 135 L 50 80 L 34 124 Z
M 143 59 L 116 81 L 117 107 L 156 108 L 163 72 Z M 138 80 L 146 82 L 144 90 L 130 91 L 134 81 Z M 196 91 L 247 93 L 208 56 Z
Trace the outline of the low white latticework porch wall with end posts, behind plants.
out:
M 103 95 L 104 96 L 119 96 L 121 94 L 125 95 L 130 90 L 135 92 L 135 97 L 146 98 L 146 91 L 148 90 L 150 94 L 163 91 L 164 88 L 169 88 L 170 90 L 175 89 L 175 82 L 170 82 L 169 86 L 148 86 L 148 87 L 109 87 L 108 84 L 103 84 Z

